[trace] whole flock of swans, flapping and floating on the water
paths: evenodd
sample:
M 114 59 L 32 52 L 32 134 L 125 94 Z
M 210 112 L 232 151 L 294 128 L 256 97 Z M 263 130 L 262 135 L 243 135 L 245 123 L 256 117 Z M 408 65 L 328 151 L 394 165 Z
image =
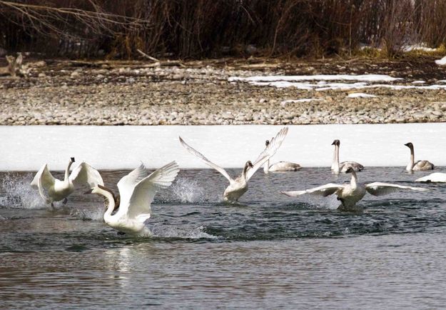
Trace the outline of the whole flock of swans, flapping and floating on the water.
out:
M 205 164 L 216 169 L 229 181 L 228 187 L 223 192 L 223 201 L 235 204 L 243 194 L 248 191 L 248 181 L 261 166 L 263 171 L 268 174 L 271 171 L 298 171 L 301 167 L 288 161 L 280 161 L 270 165 L 270 158 L 276 153 L 283 143 L 288 128 L 281 129 L 273 139 L 265 142 L 265 149 L 258 155 L 255 161 L 246 161 L 240 176 L 233 178 L 225 169 L 206 158 L 192 146 L 186 143 L 181 136 L 180 144 L 193 156 L 201 159 Z M 373 182 L 370 184 L 361 184 L 358 181 L 356 172 L 362 171 L 364 166 L 355 161 L 339 161 L 340 141 L 335 140 L 333 154 L 333 163 L 331 170 L 335 174 L 351 174 L 349 184 L 325 184 L 312 189 L 298 191 L 280 191 L 281 194 L 290 197 L 297 197 L 303 194 L 313 194 L 319 196 L 329 196 L 335 194 L 341 205 L 340 210 L 356 211 L 356 204 L 363 199 L 366 193 L 374 196 L 390 194 L 394 191 L 427 191 L 422 187 L 402 186 L 399 184 L 390 184 L 383 182 Z M 434 165 L 429 161 L 415 162 L 414 148 L 412 143 L 405 144 L 410 149 L 410 163 L 407 165 L 407 171 L 426 171 L 434 169 Z M 172 161 L 166 166 L 150 173 L 144 164 L 123 176 L 118 181 L 119 194 L 115 195 L 111 189 L 104 186 L 103 179 L 99 172 L 85 162 L 79 164 L 70 174 L 71 165 L 74 163 L 72 157 L 65 170 L 64 180 L 55 179 L 51 175 L 47 164 L 41 167 L 34 179 L 31 181 L 31 187 L 39 191 L 40 196 L 46 204 L 51 204 L 54 208 L 54 201 L 63 201 L 66 204 L 67 197 L 74 192 L 76 187 L 88 186 L 89 190 L 85 194 L 98 194 L 103 196 L 107 202 L 107 209 L 103 219 L 113 229 L 125 234 L 150 235 L 150 230 L 145 222 L 151 217 L 151 202 L 158 189 L 167 188 L 175 180 L 180 171 L 176 161 Z M 420 182 L 446 182 L 446 174 L 434 173 L 424 176 L 415 181 Z M 114 213 L 113 213 L 114 212 Z

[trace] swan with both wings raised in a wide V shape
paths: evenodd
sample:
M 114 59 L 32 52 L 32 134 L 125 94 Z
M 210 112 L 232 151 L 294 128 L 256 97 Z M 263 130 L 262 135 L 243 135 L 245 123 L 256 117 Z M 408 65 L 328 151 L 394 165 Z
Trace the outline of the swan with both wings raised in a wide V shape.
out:
M 255 171 L 259 169 L 263 164 L 265 164 L 265 161 L 268 161 L 271 156 L 275 154 L 275 152 L 278 150 L 279 146 L 282 144 L 283 139 L 285 139 L 285 136 L 288 134 L 288 128 L 285 127 L 283 129 L 280 129 L 278 134 L 271 139 L 270 143 L 266 148 L 260 153 L 258 158 L 252 163 L 251 161 L 246 161 L 246 164 L 243 168 L 242 174 L 238 176 L 236 179 L 233 179 L 229 176 L 228 172 L 225 171 L 221 166 L 218 166 L 211 162 L 209 159 L 207 159 L 203 154 L 196 151 L 196 149 L 193 149 L 191 146 L 186 144 L 186 142 L 181 139 L 181 136 L 179 137 L 181 145 L 183 145 L 189 153 L 197 156 L 199 159 L 205 162 L 208 166 L 211 166 L 211 168 L 216 169 L 218 172 L 223 174 L 223 176 L 228 179 L 229 186 L 226 187 L 224 193 L 223 193 L 223 201 L 229 202 L 231 204 L 236 203 L 240 196 L 245 194 L 246 191 L 248 191 L 248 181 L 253 176 Z

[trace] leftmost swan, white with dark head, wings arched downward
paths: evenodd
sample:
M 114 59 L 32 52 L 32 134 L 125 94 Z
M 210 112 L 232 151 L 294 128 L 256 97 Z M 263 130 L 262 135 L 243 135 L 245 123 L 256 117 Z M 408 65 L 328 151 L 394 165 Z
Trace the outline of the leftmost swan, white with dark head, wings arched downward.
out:
M 54 208 L 54 201 L 66 201 L 75 187 L 87 184 L 93 187 L 96 184 L 103 185 L 101 174 L 86 162 L 82 162 L 70 174 L 71 165 L 74 163 L 74 157 L 71 157 L 68 166 L 65 169 L 64 181 L 55 179 L 48 169 L 48 164 L 44 164 L 31 181 L 31 187 L 39 190 L 39 194 L 46 204 L 51 204 Z

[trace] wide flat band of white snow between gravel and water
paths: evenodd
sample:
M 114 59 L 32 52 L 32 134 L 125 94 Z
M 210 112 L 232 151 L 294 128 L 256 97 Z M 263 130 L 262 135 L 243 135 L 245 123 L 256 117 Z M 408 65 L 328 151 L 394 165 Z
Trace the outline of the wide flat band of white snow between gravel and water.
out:
M 36 171 L 48 163 L 63 170 L 71 156 L 98 169 L 133 169 L 144 162 L 160 167 L 176 160 L 181 168 L 208 168 L 178 142 L 181 136 L 208 159 L 224 167 L 241 168 L 255 160 L 265 139 L 283 126 L 0 126 L 0 170 Z M 303 166 L 331 164 L 334 139 L 340 139 L 341 160 L 365 166 L 406 166 L 409 149 L 416 159 L 446 166 L 446 123 L 295 125 L 273 161 Z M 68 138 L 67 138 L 68 137 Z

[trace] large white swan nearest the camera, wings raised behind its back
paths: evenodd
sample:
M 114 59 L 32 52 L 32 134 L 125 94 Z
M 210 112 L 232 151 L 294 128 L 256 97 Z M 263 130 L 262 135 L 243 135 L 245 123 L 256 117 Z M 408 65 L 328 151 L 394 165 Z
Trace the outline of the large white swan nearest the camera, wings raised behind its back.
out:
M 170 186 L 180 169 L 175 161 L 149 173 L 144 164 L 118 181 L 119 199 L 111 189 L 96 185 L 86 194 L 98 194 L 108 201 L 103 219 L 108 226 L 125 234 L 151 236 L 144 222 L 151 217 L 151 203 L 158 189 Z M 116 211 L 112 215 L 113 211 Z

